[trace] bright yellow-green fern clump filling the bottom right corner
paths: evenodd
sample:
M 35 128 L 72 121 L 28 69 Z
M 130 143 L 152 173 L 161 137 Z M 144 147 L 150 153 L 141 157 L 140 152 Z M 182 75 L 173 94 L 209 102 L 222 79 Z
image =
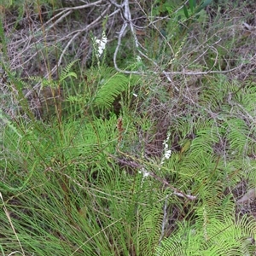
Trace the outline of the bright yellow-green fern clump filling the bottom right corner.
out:
M 253 241 L 255 236 L 253 219 L 245 216 L 236 223 L 232 215 L 218 219 L 205 214 L 203 210 L 195 225 L 179 225 L 177 233 L 162 241 L 155 255 L 252 255 L 255 246 L 245 241 Z

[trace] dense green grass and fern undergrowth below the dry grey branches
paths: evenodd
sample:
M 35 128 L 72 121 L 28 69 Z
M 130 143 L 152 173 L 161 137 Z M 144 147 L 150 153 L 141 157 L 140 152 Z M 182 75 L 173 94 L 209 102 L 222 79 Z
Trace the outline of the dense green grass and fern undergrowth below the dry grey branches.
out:
M 165 160 L 134 148 L 137 127 L 148 129 L 140 116 L 124 114 L 121 127 L 115 113 L 10 120 L 0 162 L 3 255 L 252 255 L 255 220 L 236 214 L 231 191 L 256 179 L 255 131 L 244 118 L 255 89 L 237 89 L 215 81 L 202 89 L 197 115 L 170 125 L 166 143 L 179 131 L 181 149 Z

